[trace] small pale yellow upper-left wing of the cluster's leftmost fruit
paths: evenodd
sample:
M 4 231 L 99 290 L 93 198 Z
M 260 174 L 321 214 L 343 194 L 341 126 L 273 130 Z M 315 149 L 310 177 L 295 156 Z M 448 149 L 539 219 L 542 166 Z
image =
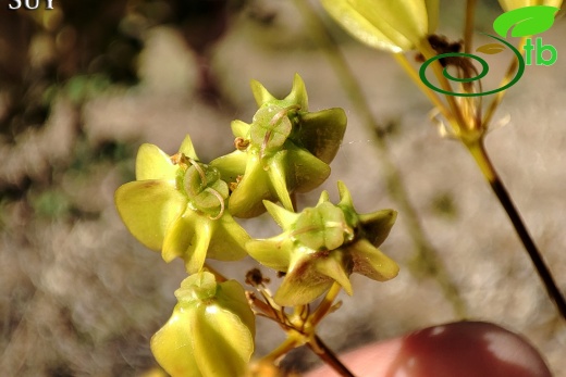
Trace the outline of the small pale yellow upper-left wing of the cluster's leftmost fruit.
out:
M 171 162 L 170 156 L 157 146 L 144 143 L 136 156 L 136 179 L 175 179 L 179 166 Z

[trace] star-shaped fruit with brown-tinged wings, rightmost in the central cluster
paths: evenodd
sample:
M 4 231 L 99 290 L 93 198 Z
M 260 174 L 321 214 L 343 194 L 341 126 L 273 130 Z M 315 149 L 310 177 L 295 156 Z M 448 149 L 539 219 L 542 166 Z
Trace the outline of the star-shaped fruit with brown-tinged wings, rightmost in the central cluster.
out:
M 397 275 L 397 264 L 378 249 L 395 223 L 396 212 L 358 214 L 349 191 L 341 181 L 339 191 L 337 205 L 332 204 L 323 191 L 317 206 L 300 213 L 264 203 L 283 234 L 251 240 L 246 248 L 260 263 L 285 273 L 273 298 L 278 304 L 307 304 L 334 281 L 352 294 L 352 273 L 379 281 Z

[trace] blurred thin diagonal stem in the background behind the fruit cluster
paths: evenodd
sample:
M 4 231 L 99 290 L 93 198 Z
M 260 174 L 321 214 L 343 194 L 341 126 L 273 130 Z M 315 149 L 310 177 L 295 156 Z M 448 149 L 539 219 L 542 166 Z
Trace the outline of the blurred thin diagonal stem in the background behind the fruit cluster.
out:
M 408 199 L 409 196 L 401 173 L 391 160 L 384 133 L 381 130 L 381 127 L 378 126 L 379 123 L 373 116 L 366 97 L 362 95 L 364 91 L 357 78 L 354 76 L 336 42 L 330 36 L 318 14 L 310 8 L 307 1 L 295 0 L 295 4 L 299 9 L 311 37 L 320 46 L 336 72 L 336 75 L 340 77 L 356 113 L 361 117 L 362 123 L 373 135 L 373 144 L 380 153 L 379 161 L 382 164 L 381 171 L 384 172 L 383 175 L 385 177 L 387 192 L 397 203 L 399 212 L 404 214 L 405 225 L 409 231 L 414 247 L 417 250 L 416 259 L 419 262 L 418 269 L 426 271 L 432 274 L 431 276 L 434 276 L 445 298 L 452 303 L 455 315 L 459 318 L 465 318 L 466 304 L 459 296 L 456 285 L 451 279 L 450 274 L 438 256 L 438 251 L 424 235 L 424 230 L 418 219 L 417 211 Z

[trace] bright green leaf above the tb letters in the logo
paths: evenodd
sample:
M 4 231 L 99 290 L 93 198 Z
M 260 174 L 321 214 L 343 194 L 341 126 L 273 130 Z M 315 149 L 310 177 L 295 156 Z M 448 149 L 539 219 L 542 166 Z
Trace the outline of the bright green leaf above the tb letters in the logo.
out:
M 512 37 L 526 37 L 546 32 L 554 23 L 554 14 L 559 8 L 533 5 L 503 13 L 493 22 L 493 29 L 505 38 L 513 28 Z M 514 27 L 515 26 L 515 27 Z

